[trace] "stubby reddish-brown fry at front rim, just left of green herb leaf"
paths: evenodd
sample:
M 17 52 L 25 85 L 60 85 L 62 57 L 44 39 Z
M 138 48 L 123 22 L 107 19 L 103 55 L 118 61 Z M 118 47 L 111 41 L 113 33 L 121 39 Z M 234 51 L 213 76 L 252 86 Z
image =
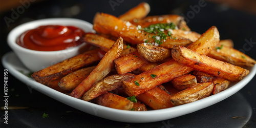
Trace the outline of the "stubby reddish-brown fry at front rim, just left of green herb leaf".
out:
M 95 98 L 94 102 L 102 106 L 119 110 L 131 110 L 134 105 L 129 99 L 108 92 Z

